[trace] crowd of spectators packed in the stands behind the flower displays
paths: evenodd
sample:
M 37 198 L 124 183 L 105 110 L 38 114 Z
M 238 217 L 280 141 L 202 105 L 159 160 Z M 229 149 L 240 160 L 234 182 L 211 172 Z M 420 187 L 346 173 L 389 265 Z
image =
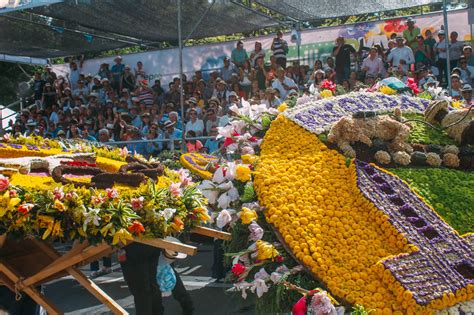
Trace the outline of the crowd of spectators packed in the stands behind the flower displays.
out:
M 47 66 L 34 75 L 34 105 L 19 114 L 12 132 L 52 138 L 87 139 L 100 142 L 161 140 L 129 144 L 129 149 L 145 156 L 179 146 L 185 133 L 186 149 L 214 153 L 221 143 L 214 139 L 193 139 L 217 135 L 217 127 L 229 123 L 232 104 L 265 103 L 277 107 L 289 95 L 317 93 L 319 84 L 332 80 L 346 92 L 373 85 L 378 79 L 395 76 L 413 78 L 420 89 L 446 85 L 452 81 L 453 98 L 471 102 L 474 78 L 472 48 L 449 34 L 445 45 L 443 30 L 438 39 L 425 34 L 411 18 L 403 34 L 393 34 L 388 47 L 375 45 L 359 49 L 343 37 L 335 41 L 332 56 L 316 60 L 312 66 L 287 63 L 288 43 L 278 32 L 268 50 L 260 42 L 248 53 L 241 41 L 224 66 L 208 79 L 198 70 L 192 78 L 176 77 L 164 88 L 160 80 L 147 81 L 142 62 L 134 66 L 114 59 L 104 63 L 94 75 L 81 72 L 83 59 L 69 64 L 66 76 Z M 451 68 L 447 69 L 450 52 Z M 265 62 L 268 60 L 268 63 Z M 183 84 L 184 121 L 180 111 L 180 85 Z

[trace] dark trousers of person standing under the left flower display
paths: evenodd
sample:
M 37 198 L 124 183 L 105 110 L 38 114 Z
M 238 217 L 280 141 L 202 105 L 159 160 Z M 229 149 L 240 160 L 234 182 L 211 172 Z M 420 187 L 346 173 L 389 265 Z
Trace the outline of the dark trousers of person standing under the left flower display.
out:
M 156 282 L 160 250 L 144 244 L 132 243 L 125 247 L 127 259 L 121 262 L 123 277 L 135 302 L 137 315 L 164 313 L 161 291 Z

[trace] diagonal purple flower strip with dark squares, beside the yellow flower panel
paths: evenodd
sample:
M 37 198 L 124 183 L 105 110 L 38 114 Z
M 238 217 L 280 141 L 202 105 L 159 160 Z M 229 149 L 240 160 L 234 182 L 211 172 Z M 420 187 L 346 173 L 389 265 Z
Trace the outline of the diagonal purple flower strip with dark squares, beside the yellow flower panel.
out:
M 474 284 L 474 254 L 467 238 L 460 237 L 398 177 L 357 160 L 356 170 L 364 197 L 419 248 L 416 253 L 383 261 L 395 279 L 413 292 L 418 304 L 426 305 Z

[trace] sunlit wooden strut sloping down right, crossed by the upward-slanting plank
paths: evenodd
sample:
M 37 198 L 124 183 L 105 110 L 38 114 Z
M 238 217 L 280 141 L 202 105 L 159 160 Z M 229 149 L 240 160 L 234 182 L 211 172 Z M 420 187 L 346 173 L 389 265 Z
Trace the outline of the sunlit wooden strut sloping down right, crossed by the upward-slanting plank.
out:
M 52 259 L 57 259 L 61 255 L 56 252 L 51 246 L 41 242 L 36 241 L 38 247 L 40 247 L 49 257 Z M 108 253 L 109 250 L 106 250 Z M 100 258 L 100 257 L 99 257 Z M 97 300 L 102 302 L 102 304 L 107 305 L 107 307 L 114 312 L 116 315 L 128 315 L 128 312 L 122 308 L 117 302 L 115 302 L 110 296 L 107 295 L 102 289 L 88 279 L 84 274 L 75 267 L 67 268 L 66 271 L 76 279 L 79 284 L 81 284 L 87 291 L 89 291 Z

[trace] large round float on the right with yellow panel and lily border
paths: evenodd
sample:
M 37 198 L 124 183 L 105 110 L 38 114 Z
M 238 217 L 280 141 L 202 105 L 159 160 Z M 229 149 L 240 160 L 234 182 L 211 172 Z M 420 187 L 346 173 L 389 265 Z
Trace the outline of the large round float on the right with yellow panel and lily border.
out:
M 337 301 L 352 305 L 353 314 L 469 309 L 471 234 L 460 237 L 394 175 L 346 158 L 323 142 L 328 137 L 322 133 L 341 117 L 398 111 L 394 119 L 400 122 L 398 108 L 421 115 L 428 105 L 425 99 L 384 90 L 289 99 L 280 115 L 265 113 L 262 119 L 252 116 L 257 105 L 234 109 L 235 118 L 220 129 L 232 161 L 214 164 L 212 176 L 199 185 L 217 227 L 232 233 L 225 252 L 234 289 L 243 298 L 254 293 L 257 310 L 266 313 L 332 314 Z M 460 156 L 457 148 L 434 150 L 429 139 L 420 141 L 425 151 L 415 154 L 389 153 L 379 142 L 374 140 L 374 152 L 391 167 L 418 161 L 418 153 L 424 154 L 424 166 L 440 165 L 447 154 Z M 462 187 L 467 189 L 472 184 L 466 178 Z M 446 194 L 462 198 L 469 192 Z M 437 208 L 443 192 L 433 195 L 437 201 L 427 198 Z M 456 198 L 447 198 L 445 207 Z M 467 212 L 459 216 L 459 226 L 470 232 Z

